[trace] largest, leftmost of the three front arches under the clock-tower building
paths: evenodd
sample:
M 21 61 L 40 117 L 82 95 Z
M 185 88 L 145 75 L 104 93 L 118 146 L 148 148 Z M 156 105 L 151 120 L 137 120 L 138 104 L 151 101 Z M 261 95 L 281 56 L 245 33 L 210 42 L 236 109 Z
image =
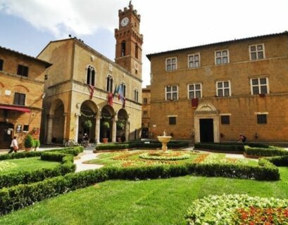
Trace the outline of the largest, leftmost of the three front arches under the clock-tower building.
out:
M 78 128 L 78 143 L 83 139 L 84 134 L 89 136 L 90 142 L 95 142 L 96 132 L 96 115 L 98 109 L 96 104 L 87 100 L 84 101 L 80 107 L 79 128 Z

